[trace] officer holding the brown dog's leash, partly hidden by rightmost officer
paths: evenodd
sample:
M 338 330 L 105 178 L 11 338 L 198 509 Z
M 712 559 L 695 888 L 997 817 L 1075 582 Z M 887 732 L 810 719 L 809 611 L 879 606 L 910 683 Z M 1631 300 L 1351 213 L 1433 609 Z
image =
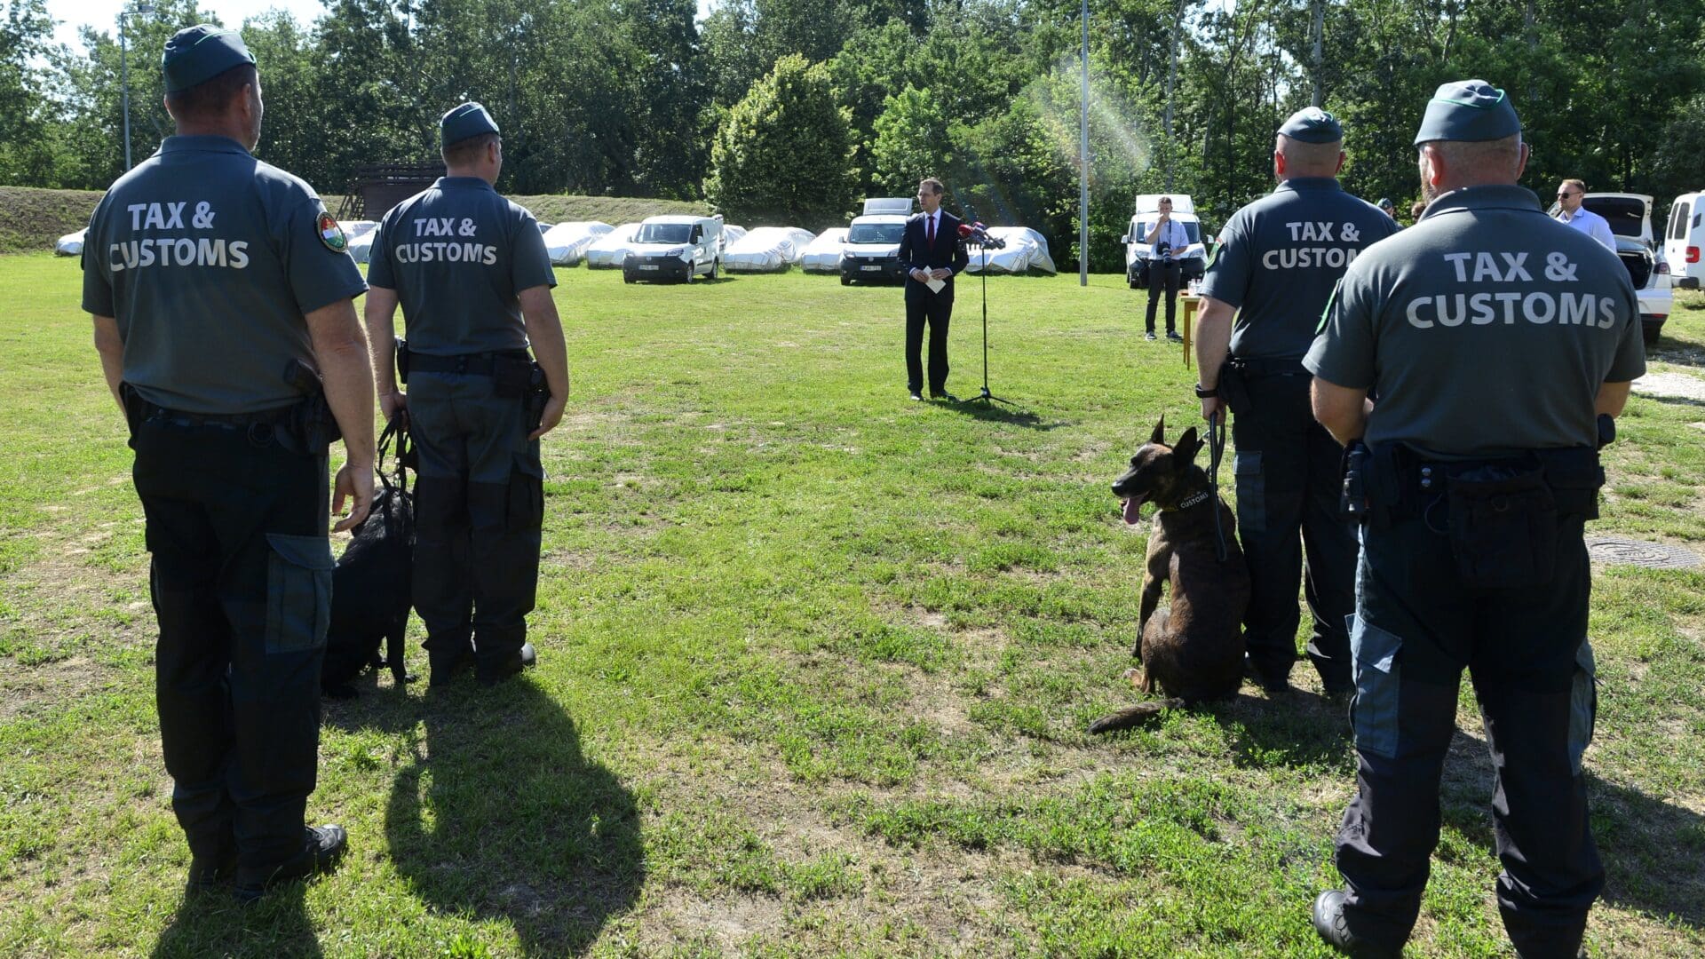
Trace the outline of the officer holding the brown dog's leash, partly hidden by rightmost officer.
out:
M 1308 657 L 1326 693 L 1352 688 L 1355 534 L 1338 515 L 1344 447 L 1315 421 L 1303 355 L 1345 268 L 1398 227 L 1338 186 L 1342 167 L 1337 118 L 1313 106 L 1292 114 L 1274 143 L 1279 188 L 1231 217 L 1202 287 L 1197 396 L 1204 418 L 1228 404 L 1234 416 L 1245 625 L 1250 665 L 1269 691 L 1289 688 L 1296 662 L 1298 578 L 1315 619 Z

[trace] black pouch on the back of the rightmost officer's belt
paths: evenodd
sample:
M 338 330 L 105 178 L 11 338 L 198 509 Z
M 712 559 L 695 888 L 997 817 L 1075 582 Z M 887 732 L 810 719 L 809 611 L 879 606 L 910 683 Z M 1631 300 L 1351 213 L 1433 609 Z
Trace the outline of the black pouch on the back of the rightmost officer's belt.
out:
M 1533 589 L 1557 567 L 1557 497 L 1528 461 L 1446 466 L 1451 555 L 1475 589 Z

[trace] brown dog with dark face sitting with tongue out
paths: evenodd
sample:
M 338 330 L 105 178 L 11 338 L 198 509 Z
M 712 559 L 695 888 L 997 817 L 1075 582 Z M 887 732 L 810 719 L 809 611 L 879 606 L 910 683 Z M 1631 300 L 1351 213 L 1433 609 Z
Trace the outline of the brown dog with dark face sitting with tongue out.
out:
M 1137 625 L 1141 669 L 1125 677 L 1142 693 L 1159 684 L 1166 700 L 1139 703 L 1105 715 L 1089 732 L 1137 725 L 1161 710 L 1234 696 L 1243 686 L 1243 609 L 1250 604 L 1250 570 L 1234 536 L 1236 517 L 1197 466 L 1202 440 L 1190 427 L 1166 445 L 1166 418 L 1130 457 L 1130 469 L 1113 483 L 1125 500 L 1125 522 L 1136 526 L 1144 503 L 1154 503 L 1154 529 L 1142 561 L 1142 611 Z M 1226 539 L 1216 549 L 1214 510 Z M 1161 584 L 1171 585 L 1171 606 L 1156 609 Z

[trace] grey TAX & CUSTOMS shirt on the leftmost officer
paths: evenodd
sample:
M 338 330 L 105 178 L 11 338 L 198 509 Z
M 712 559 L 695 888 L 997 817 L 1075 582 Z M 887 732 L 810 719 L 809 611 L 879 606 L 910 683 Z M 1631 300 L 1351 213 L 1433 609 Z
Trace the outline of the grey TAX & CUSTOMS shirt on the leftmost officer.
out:
M 89 218 L 84 309 L 118 321 L 124 382 L 184 413 L 263 413 L 302 399 L 303 314 L 361 295 L 322 237 L 314 188 L 227 137 L 167 137 Z M 341 241 L 336 241 L 341 244 Z

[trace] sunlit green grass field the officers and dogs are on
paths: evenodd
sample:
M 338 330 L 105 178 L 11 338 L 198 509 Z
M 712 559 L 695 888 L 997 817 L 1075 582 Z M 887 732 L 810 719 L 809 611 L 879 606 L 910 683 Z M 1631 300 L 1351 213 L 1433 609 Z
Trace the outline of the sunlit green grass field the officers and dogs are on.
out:
M 893 288 L 559 278 L 539 669 L 327 703 L 309 809 L 353 851 L 240 910 L 182 896 L 77 266 L 0 258 L 0 956 L 1326 956 L 1354 756 L 1306 664 L 1286 698 L 1083 732 L 1134 696 L 1144 529 L 1107 485 L 1159 413 L 1195 420 L 1117 276 L 989 283 L 992 410 L 905 399 Z M 1705 365 L 1685 304 L 1654 369 Z M 1705 549 L 1700 403 L 1637 396 L 1610 469 L 1596 531 Z M 1596 575 L 1592 956 L 1705 954 L 1702 585 Z M 1412 956 L 1509 950 L 1488 783 L 1465 686 Z

